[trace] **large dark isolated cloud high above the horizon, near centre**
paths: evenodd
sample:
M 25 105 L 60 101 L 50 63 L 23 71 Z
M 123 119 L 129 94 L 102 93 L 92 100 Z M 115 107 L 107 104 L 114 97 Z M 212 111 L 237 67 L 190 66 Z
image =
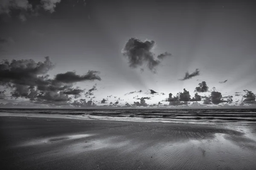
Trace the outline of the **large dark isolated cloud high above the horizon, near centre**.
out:
M 125 47 L 122 49 L 123 56 L 127 57 L 129 67 L 137 68 L 144 64 L 147 68 L 156 73 L 155 67 L 160 64 L 160 60 L 154 59 L 154 53 L 151 51 L 154 47 L 155 42 L 152 40 L 141 41 L 137 38 L 130 38 L 126 42 Z M 160 54 L 160 59 L 165 58 L 169 53 Z M 144 71 L 144 70 L 140 70 Z

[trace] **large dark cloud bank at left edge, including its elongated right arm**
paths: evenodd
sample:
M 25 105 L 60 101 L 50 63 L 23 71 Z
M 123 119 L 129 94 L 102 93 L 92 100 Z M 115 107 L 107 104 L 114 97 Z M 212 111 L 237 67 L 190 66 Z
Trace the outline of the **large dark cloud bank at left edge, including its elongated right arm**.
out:
M 74 83 L 86 80 L 100 80 L 97 71 L 88 71 L 84 76 L 74 72 L 57 74 L 49 79 L 47 72 L 54 68 L 49 57 L 44 62 L 32 59 L 3 60 L 0 63 L 0 85 L 10 88 L 12 97 L 26 98 L 36 103 L 64 103 L 81 96 L 83 90 L 73 88 Z M 65 77 L 66 76 L 66 77 Z

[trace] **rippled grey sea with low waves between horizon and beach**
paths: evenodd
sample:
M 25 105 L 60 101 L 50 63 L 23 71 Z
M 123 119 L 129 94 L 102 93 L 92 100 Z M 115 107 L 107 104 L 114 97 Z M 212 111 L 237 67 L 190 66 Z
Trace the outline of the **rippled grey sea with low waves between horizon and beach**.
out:
M 256 125 L 256 109 L 0 109 L 0 115 L 130 122 Z

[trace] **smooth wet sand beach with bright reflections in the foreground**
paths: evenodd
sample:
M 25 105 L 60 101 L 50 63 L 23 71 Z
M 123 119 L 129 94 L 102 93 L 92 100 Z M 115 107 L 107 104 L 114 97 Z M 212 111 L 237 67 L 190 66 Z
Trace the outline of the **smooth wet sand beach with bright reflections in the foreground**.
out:
M 0 116 L 1 170 L 254 170 L 256 127 Z

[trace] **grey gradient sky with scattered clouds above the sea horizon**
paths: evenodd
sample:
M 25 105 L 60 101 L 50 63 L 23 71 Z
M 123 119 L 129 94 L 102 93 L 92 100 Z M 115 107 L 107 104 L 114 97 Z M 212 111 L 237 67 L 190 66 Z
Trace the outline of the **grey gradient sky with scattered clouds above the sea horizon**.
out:
M 1 106 L 255 105 L 254 8 L 247 0 L 0 0 Z M 202 82 L 208 89 L 195 91 Z

